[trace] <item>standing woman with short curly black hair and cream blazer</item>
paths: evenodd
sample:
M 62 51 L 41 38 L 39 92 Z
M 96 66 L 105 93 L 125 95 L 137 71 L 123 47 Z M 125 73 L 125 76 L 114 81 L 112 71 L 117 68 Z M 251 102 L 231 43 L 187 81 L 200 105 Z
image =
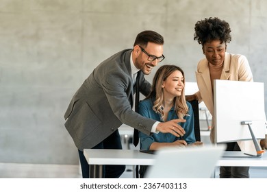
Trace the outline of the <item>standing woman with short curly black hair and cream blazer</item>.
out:
M 197 21 L 194 27 L 194 40 L 202 45 L 205 58 L 199 61 L 196 71 L 196 82 L 199 91 L 187 96 L 188 101 L 204 101 L 214 117 L 214 80 L 233 80 L 252 82 L 253 75 L 245 56 L 227 53 L 227 43 L 231 41 L 229 23 L 218 18 Z M 214 119 L 210 139 L 214 143 Z M 266 148 L 266 141 L 261 141 Z M 227 151 L 249 151 L 253 149 L 252 141 L 227 143 Z M 249 167 L 220 167 L 220 178 L 249 178 Z

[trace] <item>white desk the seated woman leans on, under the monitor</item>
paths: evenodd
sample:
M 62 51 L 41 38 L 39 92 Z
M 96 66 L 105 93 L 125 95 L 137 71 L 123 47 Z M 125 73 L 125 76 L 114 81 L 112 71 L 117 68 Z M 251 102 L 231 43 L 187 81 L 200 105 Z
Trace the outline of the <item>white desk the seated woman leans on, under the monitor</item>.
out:
M 231 153 L 231 152 L 225 152 Z M 235 152 L 243 154 L 242 152 Z M 90 178 L 101 178 L 102 165 L 153 165 L 155 155 L 129 149 L 84 149 L 84 156 L 90 165 Z M 261 158 L 222 157 L 217 166 L 267 167 L 267 153 Z

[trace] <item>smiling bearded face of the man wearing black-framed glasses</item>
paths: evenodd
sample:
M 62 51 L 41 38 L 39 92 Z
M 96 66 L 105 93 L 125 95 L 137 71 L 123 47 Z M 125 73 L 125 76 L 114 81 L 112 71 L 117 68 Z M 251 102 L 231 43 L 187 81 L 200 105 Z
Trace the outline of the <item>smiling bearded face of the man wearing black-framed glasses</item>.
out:
M 156 57 L 156 59 L 149 61 L 154 56 Z M 145 75 L 149 75 L 151 73 L 153 67 L 157 66 L 157 62 L 159 60 L 157 58 L 160 58 L 162 56 L 163 45 L 148 43 L 147 47 L 140 47 L 139 45 L 133 47 L 133 63 L 135 64 L 136 68 L 140 69 Z

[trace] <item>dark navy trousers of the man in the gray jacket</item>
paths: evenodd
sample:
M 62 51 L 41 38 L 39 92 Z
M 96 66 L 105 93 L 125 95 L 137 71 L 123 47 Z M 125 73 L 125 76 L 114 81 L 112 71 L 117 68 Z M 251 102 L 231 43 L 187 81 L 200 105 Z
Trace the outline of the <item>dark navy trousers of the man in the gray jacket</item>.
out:
M 104 141 L 92 147 L 92 149 L 123 149 L 120 141 L 120 134 L 118 130 L 108 136 Z M 89 165 L 84 152 L 79 151 L 79 160 L 81 163 L 81 173 L 83 178 L 89 178 Z M 104 165 L 103 178 L 119 178 L 125 171 L 125 165 Z

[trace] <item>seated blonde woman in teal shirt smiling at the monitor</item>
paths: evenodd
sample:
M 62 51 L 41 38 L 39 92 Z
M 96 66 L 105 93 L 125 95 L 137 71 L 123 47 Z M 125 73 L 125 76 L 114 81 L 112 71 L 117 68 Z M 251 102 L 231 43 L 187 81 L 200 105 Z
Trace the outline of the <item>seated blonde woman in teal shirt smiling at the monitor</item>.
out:
M 140 115 L 160 122 L 179 119 L 181 136 L 169 133 L 153 133 L 150 136 L 139 132 L 140 149 L 157 150 L 160 147 L 186 147 L 202 145 L 194 136 L 194 114 L 185 97 L 183 70 L 175 65 L 163 65 L 153 78 L 151 93 L 140 102 Z M 147 166 L 140 167 L 140 178 Z

